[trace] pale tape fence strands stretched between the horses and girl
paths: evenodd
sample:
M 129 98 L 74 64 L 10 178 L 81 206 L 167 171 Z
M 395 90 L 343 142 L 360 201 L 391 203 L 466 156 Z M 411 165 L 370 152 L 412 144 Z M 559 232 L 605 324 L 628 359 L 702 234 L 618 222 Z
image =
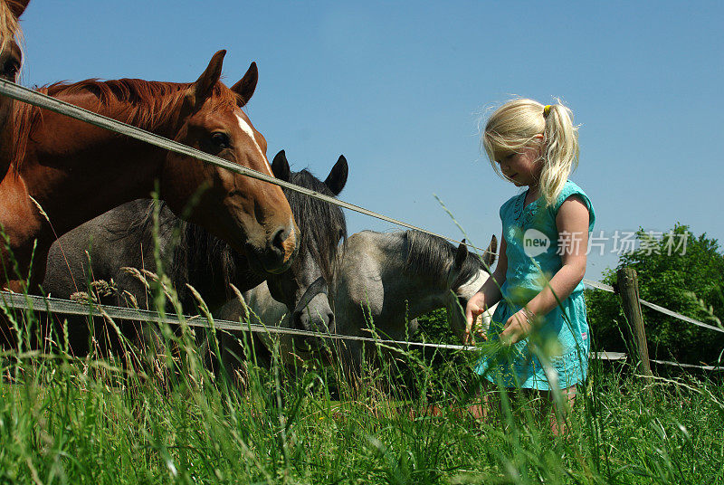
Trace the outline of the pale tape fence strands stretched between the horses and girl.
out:
M 308 195 L 310 197 L 317 198 L 321 201 L 324 201 L 328 204 L 334 204 L 338 205 L 339 207 L 357 212 L 359 214 L 366 214 L 370 217 L 375 217 L 376 219 L 380 219 L 382 221 L 385 221 L 387 223 L 394 223 L 395 225 L 399 225 L 402 227 L 405 227 L 407 229 L 413 229 L 414 231 L 419 231 L 421 233 L 427 233 L 439 238 L 442 238 L 444 240 L 450 241 L 452 243 L 462 243 L 461 241 L 457 240 L 456 238 L 448 237 L 443 234 L 439 233 L 433 233 L 432 231 L 428 231 L 424 228 L 415 226 L 411 223 L 405 223 L 404 221 L 400 221 L 397 219 L 394 219 L 392 217 L 389 217 L 385 214 L 379 214 L 374 211 L 371 211 L 369 209 L 366 209 L 365 207 L 356 205 L 356 204 L 350 204 L 348 202 L 345 202 L 343 200 L 340 200 L 338 198 L 330 197 L 329 195 L 323 195 L 319 194 L 316 191 L 307 189 L 305 187 L 301 187 L 299 185 L 294 185 L 289 182 L 267 176 L 266 174 L 262 174 L 261 172 L 257 172 L 255 170 L 252 170 L 250 168 L 247 168 L 245 166 L 240 166 L 237 164 L 234 164 L 228 160 L 225 160 L 221 157 L 214 157 L 212 155 L 209 155 L 203 151 L 197 150 L 193 147 L 187 147 L 186 145 L 183 145 L 181 143 L 178 143 L 176 141 L 170 140 L 168 138 L 160 137 L 154 133 L 151 133 L 149 131 L 146 131 L 141 128 L 134 127 L 132 125 L 129 125 L 127 123 L 122 123 L 116 119 L 110 119 L 108 117 L 102 116 L 98 113 L 94 113 L 88 109 L 82 109 L 77 106 L 74 106 L 70 103 L 67 103 L 62 100 L 58 100 L 55 98 L 52 98 L 51 96 L 44 95 L 42 93 L 39 93 L 37 91 L 25 88 L 24 86 L 20 86 L 18 84 L 15 84 L 12 81 L 6 81 L 3 79 L 0 79 L 0 94 L 3 94 L 9 98 L 12 98 L 14 100 L 19 100 L 25 103 L 32 104 L 34 106 L 37 106 L 42 109 L 49 109 L 51 111 L 54 111 L 56 113 L 62 114 L 64 116 L 71 117 L 73 119 L 79 119 L 81 121 L 90 123 L 91 125 L 97 126 L 99 128 L 105 128 L 109 129 L 110 131 L 114 131 L 116 133 L 119 133 L 121 135 L 128 136 L 130 138 L 136 138 L 138 140 L 144 141 L 146 143 L 149 143 L 151 145 L 154 145 L 156 147 L 160 147 L 163 149 L 167 149 L 182 155 L 186 155 L 188 157 L 195 157 L 199 160 L 205 161 L 206 163 L 210 163 L 215 166 L 221 166 L 227 170 L 230 170 L 232 172 L 241 174 L 243 176 L 251 176 L 252 178 L 256 178 L 258 180 L 262 180 L 264 182 L 268 182 L 273 185 L 280 185 L 281 187 L 288 188 L 290 190 L 299 192 L 300 194 Z M 470 243 L 466 243 L 469 247 L 472 247 L 472 249 L 476 251 L 482 251 L 481 248 L 477 248 L 473 246 Z M 616 290 L 614 287 L 610 285 L 606 285 L 605 283 L 602 283 L 600 281 L 591 281 L 584 279 L 584 284 L 591 288 L 595 288 L 597 290 L 605 290 L 609 292 L 615 293 Z M 82 305 L 78 302 L 74 302 L 71 300 L 57 300 L 57 299 L 43 299 L 42 297 L 33 297 L 33 296 L 24 296 L 24 300 L 21 298 L 18 298 L 18 294 L 2 291 L 0 292 L 3 305 L 5 306 L 5 309 L 40 309 L 45 311 L 53 311 L 56 313 L 71 313 L 75 315 L 87 315 L 89 312 L 92 312 L 92 308 L 97 309 L 97 311 L 102 312 L 105 314 L 105 316 L 109 318 L 120 318 L 120 319 L 148 319 L 147 321 L 165 321 L 166 323 L 176 323 L 176 324 L 186 324 L 186 325 L 196 325 L 196 320 L 199 319 L 198 317 L 185 317 L 183 319 L 178 319 L 178 321 L 174 319 L 163 319 L 159 320 L 161 317 L 156 312 L 148 312 L 147 310 L 138 310 L 138 309 L 123 309 L 119 307 L 109 307 L 109 306 L 101 306 L 101 305 Z M 37 300 L 37 299 L 41 300 Z M 685 315 L 681 315 L 680 313 L 674 312 L 670 309 L 665 309 L 659 305 L 656 305 L 654 303 L 640 300 L 640 302 L 657 311 L 662 312 L 665 315 L 668 315 L 670 317 L 673 317 L 675 319 L 680 319 L 682 321 L 688 322 L 692 325 L 696 325 L 700 328 L 707 328 L 713 331 L 722 332 L 724 333 L 724 328 L 718 328 L 714 327 L 712 325 L 706 324 L 704 322 L 701 322 L 696 319 L 691 319 L 690 317 L 686 317 Z M 123 310 L 123 311 L 121 311 Z M 140 313 L 126 313 L 126 312 L 140 312 Z M 114 317 L 115 315 L 115 317 Z M 203 326 L 207 326 L 208 324 L 203 324 Z M 228 322 L 228 321 L 214 321 L 214 325 L 216 328 L 220 329 L 233 329 L 233 330 L 239 330 L 240 325 L 238 322 Z M 227 328 L 227 326 L 230 326 Z M 458 350 L 469 350 L 471 349 L 470 346 L 453 346 L 449 344 L 430 344 L 430 343 L 421 343 L 421 342 L 406 342 L 406 341 L 396 341 L 396 340 L 384 340 L 379 338 L 362 338 L 362 337 L 353 337 L 353 336 L 341 336 L 341 335 L 330 335 L 330 334 L 320 334 L 317 332 L 306 332 L 304 330 L 296 330 L 296 329 L 285 329 L 285 328 L 276 328 L 276 327 L 262 327 L 259 326 L 259 328 L 252 328 L 252 331 L 259 331 L 259 332 L 268 332 L 268 333 L 286 333 L 291 335 L 303 335 L 308 337 L 322 337 L 322 338 L 337 338 L 337 339 L 357 339 L 362 341 L 371 341 L 381 344 L 389 344 L 389 345 L 403 345 L 403 346 L 418 346 L 418 347 L 436 347 L 436 348 L 448 348 L 448 349 L 458 349 Z M 598 358 L 605 358 L 608 360 L 617 360 L 622 358 L 621 355 L 618 355 L 616 358 L 606 358 L 606 355 L 613 355 L 613 353 L 606 353 L 602 352 L 599 353 L 600 356 L 595 356 Z M 691 365 L 683 365 L 678 363 L 672 363 L 669 361 L 656 361 L 658 364 L 664 364 L 664 365 L 675 365 L 675 366 L 686 366 L 686 367 L 692 367 Z M 707 370 L 720 370 L 724 367 L 712 367 L 712 366 L 693 366 L 698 368 L 705 368 Z

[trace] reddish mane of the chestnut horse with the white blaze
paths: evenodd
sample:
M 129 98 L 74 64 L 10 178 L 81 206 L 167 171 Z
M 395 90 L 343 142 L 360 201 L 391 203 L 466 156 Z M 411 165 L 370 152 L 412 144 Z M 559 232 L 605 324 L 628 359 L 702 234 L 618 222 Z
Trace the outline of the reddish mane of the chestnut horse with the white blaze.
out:
M 2 0 L 0 0 L 2 1 Z M 37 92 L 62 98 L 90 93 L 93 100 L 82 108 L 90 109 L 122 123 L 148 131 L 156 131 L 177 114 L 191 82 L 144 81 L 119 79 L 100 81 L 89 79 L 78 82 L 60 81 L 35 88 Z M 210 104 L 208 102 L 211 101 Z M 217 111 L 238 106 L 238 95 L 221 81 L 216 82 L 212 96 L 204 109 Z M 13 166 L 20 170 L 28 139 L 42 119 L 42 110 L 27 103 L 14 103 L 14 156 Z

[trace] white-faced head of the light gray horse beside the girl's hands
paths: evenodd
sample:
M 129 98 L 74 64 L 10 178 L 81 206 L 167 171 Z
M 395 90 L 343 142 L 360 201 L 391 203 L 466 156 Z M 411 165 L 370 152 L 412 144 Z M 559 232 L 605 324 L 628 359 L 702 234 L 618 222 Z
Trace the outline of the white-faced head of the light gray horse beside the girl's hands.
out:
M 481 259 L 468 252 L 465 241 L 458 246 L 454 262 L 448 273 L 448 298 L 445 300 L 448 323 L 453 332 L 459 337 L 465 330 L 465 307 L 485 281 L 488 280 L 490 269 L 495 262 L 498 252 L 498 239 L 492 236 L 488 249 L 483 252 Z M 483 315 L 485 319 L 486 316 Z M 488 317 L 489 318 L 489 317 Z

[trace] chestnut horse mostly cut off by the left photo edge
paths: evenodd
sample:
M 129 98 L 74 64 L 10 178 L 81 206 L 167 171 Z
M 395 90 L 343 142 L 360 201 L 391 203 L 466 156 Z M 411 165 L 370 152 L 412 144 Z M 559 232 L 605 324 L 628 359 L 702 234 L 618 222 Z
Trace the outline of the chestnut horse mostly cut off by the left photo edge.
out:
M 22 35 L 18 17 L 25 11 L 30 0 L 0 0 L 0 78 L 17 81 L 23 52 L 16 37 Z M 8 126 L 14 101 L 0 95 L 0 147 L 9 147 L 12 143 L 13 129 Z M 7 128 L 7 129 L 5 129 Z M 0 149 L 0 179 L 10 166 L 11 152 Z

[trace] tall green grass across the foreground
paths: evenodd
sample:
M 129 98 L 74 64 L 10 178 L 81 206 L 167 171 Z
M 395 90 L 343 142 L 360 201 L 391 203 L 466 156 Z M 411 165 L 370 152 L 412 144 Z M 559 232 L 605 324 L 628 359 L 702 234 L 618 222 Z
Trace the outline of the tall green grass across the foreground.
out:
M 250 364 L 241 388 L 209 374 L 190 338 L 168 338 L 181 371 L 160 370 L 171 356 L 134 372 L 62 346 L 5 352 L 0 482 L 724 482 L 724 386 L 705 376 L 646 386 L 592 362 L 555 437 L 536 404 L 504 393 L 484 421 L 461 412 L 471 357 L 403 353 L 355 389 L 335 366 Z

